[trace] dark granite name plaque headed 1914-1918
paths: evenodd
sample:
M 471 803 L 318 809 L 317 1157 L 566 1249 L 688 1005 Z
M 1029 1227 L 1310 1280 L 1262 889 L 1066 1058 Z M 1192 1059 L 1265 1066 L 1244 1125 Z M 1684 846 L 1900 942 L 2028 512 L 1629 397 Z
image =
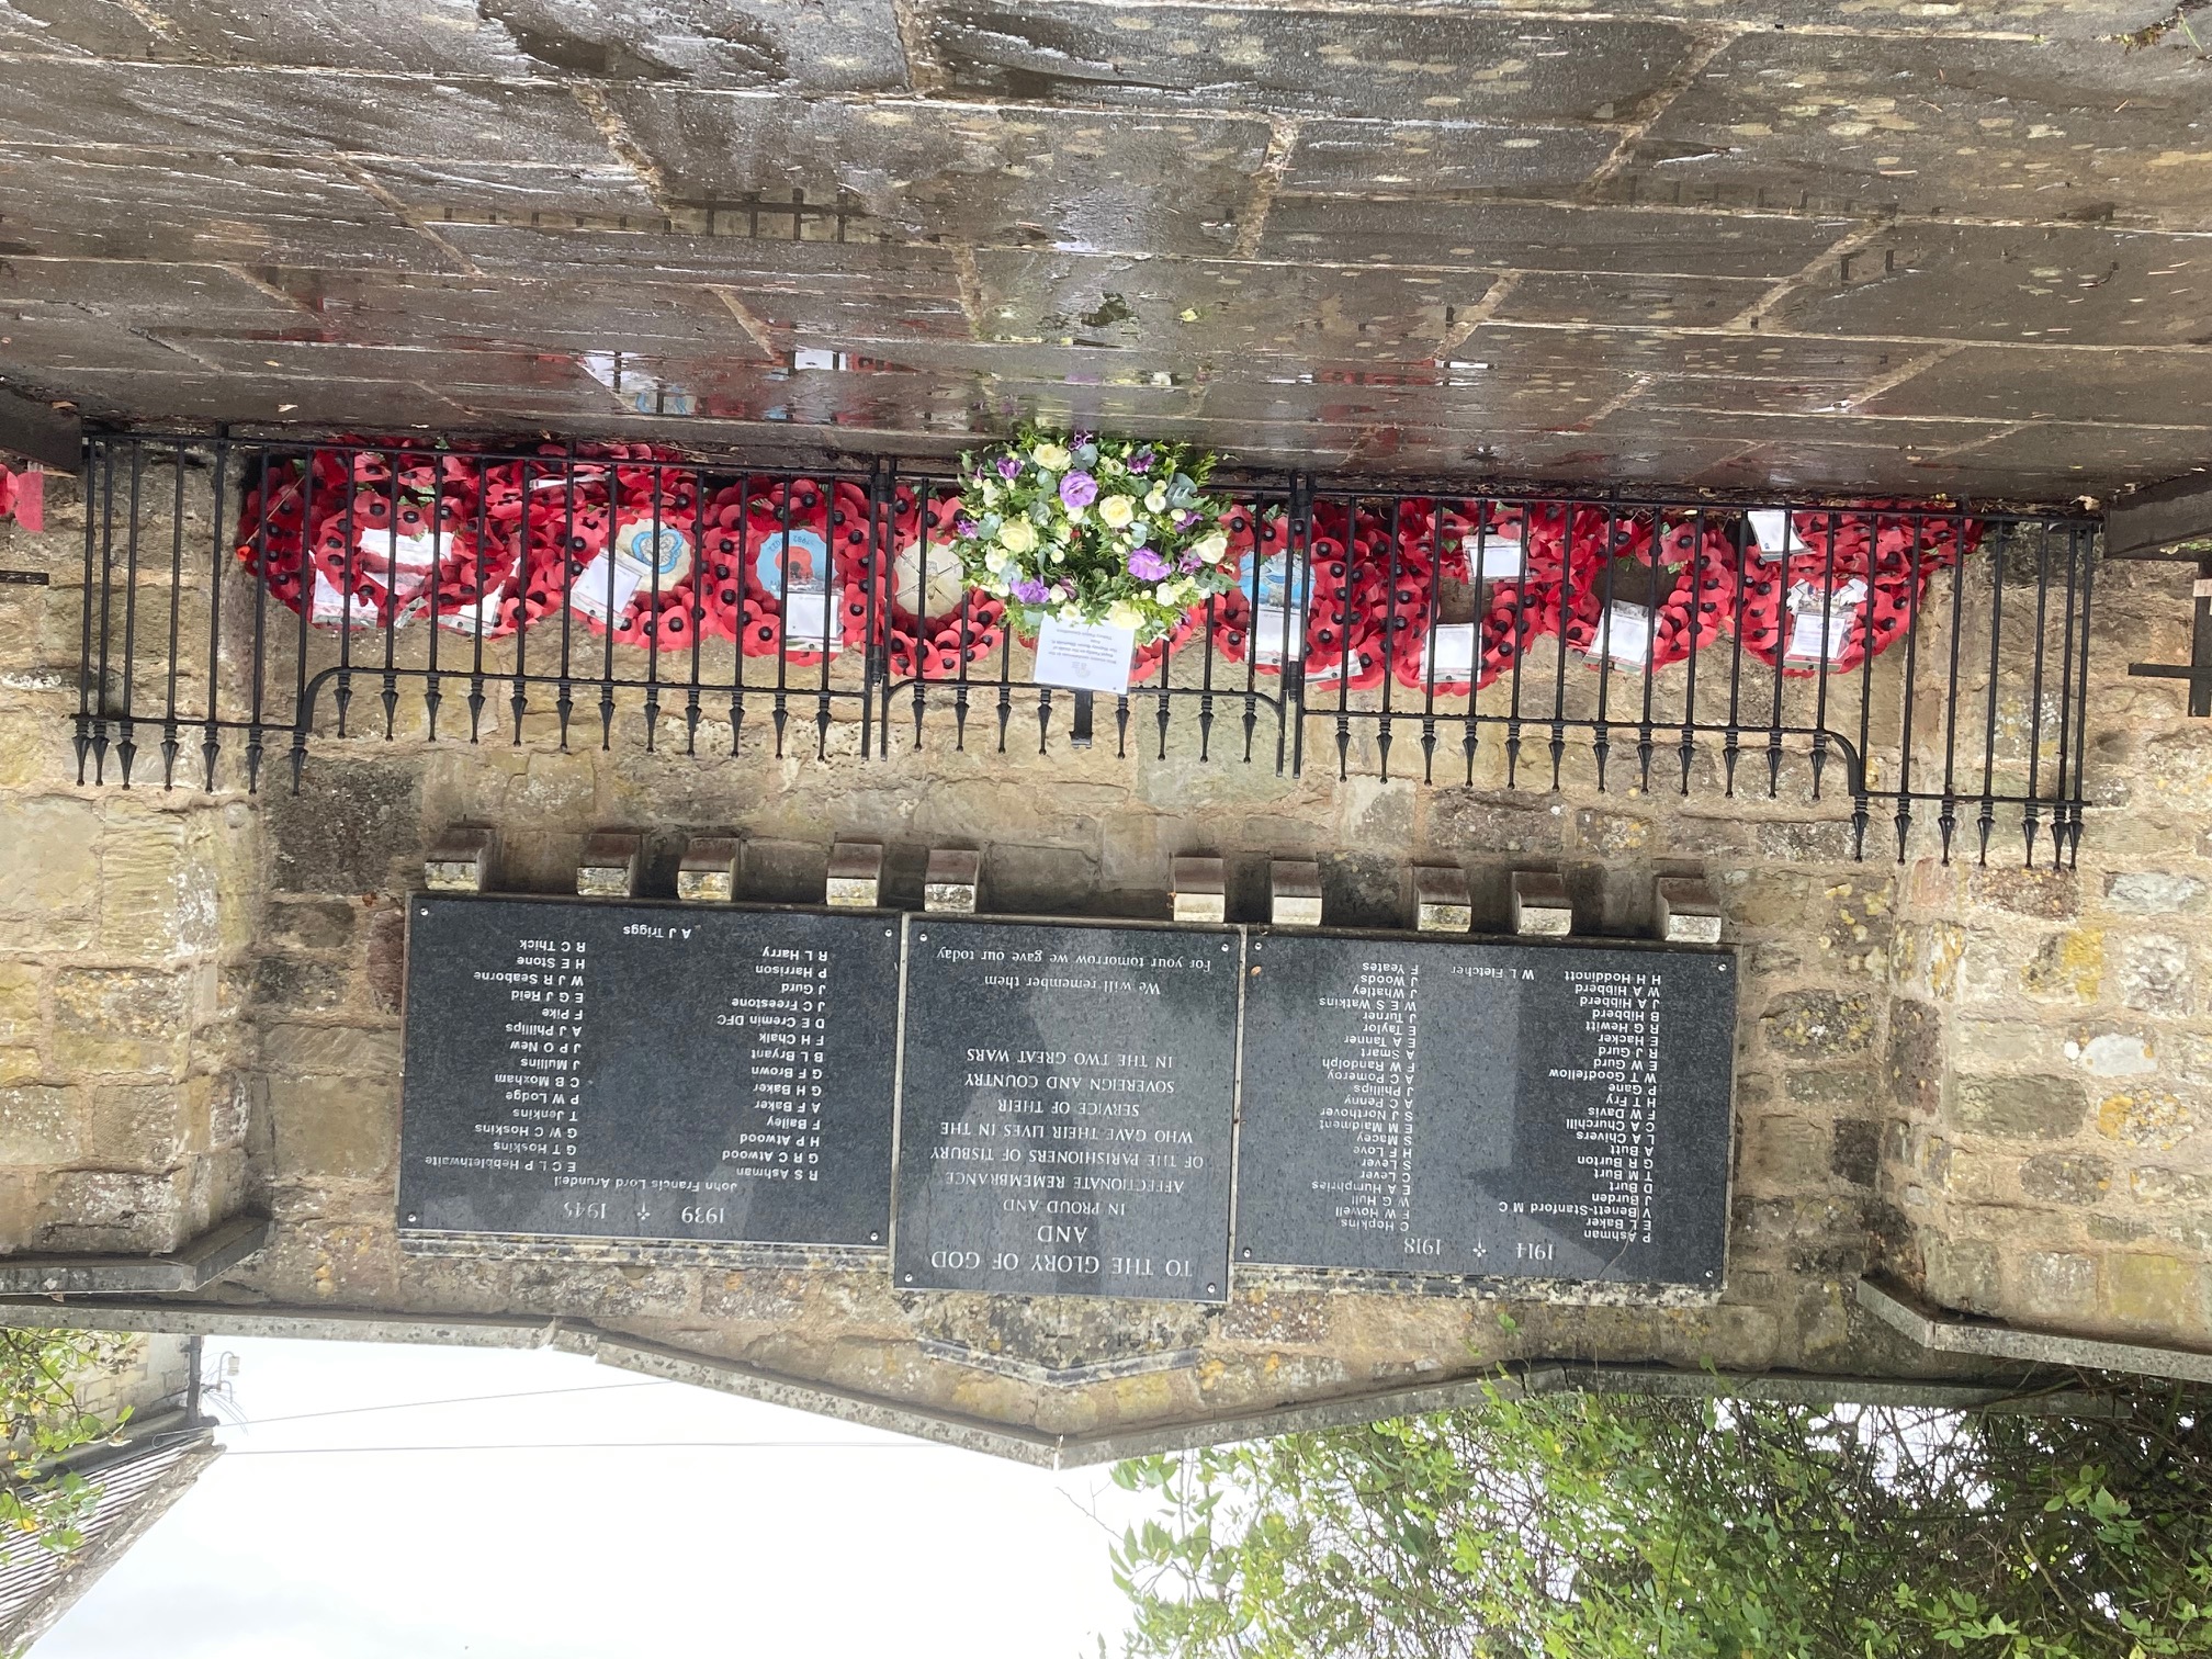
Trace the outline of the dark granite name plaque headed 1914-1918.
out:
M 1248 949 L 1239 1261 L 1719 1287 L 1730 956 Z

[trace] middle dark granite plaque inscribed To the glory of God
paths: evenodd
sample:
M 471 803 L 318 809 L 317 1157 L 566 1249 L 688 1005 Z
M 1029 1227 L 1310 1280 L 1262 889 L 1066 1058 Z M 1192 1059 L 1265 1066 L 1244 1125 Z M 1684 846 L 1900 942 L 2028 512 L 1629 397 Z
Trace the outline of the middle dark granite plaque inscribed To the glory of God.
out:
M 898 1283 L 1223 1301 L 1241 936 L 907 929 Z

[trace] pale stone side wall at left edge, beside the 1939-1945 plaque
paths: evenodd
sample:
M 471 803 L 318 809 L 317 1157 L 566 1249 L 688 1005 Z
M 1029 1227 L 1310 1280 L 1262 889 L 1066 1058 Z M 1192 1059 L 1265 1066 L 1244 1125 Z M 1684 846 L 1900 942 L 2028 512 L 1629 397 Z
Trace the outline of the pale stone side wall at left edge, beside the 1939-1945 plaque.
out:
M 0 1237 L 170 1250 L 246 1199 L 239 1013 L 259 916 L 246 801 L 77 790 L 82 504 L 0 526 Z

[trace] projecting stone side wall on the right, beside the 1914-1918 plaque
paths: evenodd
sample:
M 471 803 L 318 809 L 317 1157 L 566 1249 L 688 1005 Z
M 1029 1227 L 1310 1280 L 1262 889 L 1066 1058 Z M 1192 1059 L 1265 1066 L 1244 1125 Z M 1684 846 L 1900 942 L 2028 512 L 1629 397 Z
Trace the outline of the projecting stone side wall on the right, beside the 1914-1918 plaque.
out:
M 2188 659 L 2188 573 L 2097 575 L 2079 869 L 1911 867 L 1885 1164 L 1936 1301 L 2203 1345 L 2212 723 L 2174 681 L 2126 677 Z

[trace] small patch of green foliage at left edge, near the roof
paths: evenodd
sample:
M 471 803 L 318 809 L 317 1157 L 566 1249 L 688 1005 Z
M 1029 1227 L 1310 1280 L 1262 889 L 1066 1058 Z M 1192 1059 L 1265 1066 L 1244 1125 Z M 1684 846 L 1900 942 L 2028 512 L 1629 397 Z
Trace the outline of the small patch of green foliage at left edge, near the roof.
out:
M 111 1358 L 111 1340 L 93 1332 L 0 1329 L 0 1413 L 7 1425 L 7 1469 L 0 1473 L 0 1562 L 24 1544 L 73 1551 L 80 1524 L 100 1498 L 84 1475 L 58 1460 L 111 1438 L 113 1422 L 77 1407 L 77 1380 Z

